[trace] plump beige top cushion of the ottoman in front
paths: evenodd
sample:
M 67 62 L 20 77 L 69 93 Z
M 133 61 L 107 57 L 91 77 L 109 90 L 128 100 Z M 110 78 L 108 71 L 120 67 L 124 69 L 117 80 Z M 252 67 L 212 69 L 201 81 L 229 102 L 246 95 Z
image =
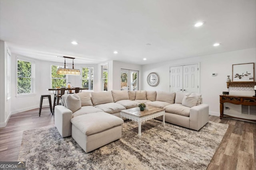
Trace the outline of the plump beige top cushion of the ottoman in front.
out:
M 122 125 L 123 119 L 105 112 L 89 113 L 71 119 L 71 123 L 85 135 L 93 135 Z

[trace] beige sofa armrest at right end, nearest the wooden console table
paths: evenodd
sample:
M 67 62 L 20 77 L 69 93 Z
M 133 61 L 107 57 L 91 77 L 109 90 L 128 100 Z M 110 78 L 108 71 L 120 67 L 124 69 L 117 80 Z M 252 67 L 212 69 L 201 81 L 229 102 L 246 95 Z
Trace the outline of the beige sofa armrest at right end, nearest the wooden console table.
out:
M 209 121 L 209 105 L 200 104 L 191 107 L 189 116 L 189 127 L 198 131 Z

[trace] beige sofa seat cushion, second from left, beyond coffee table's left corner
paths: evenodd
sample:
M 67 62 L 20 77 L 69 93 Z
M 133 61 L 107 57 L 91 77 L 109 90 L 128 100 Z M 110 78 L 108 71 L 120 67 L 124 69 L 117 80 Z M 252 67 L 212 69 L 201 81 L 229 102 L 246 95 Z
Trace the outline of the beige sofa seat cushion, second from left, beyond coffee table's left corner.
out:
M 106 103 L 106 104 L 99 104 L 95 106 L 98 109 L 102 109 L 107 113 L 117 113 L 121 110 L 125 110 L 126 108 L 118 103 Z

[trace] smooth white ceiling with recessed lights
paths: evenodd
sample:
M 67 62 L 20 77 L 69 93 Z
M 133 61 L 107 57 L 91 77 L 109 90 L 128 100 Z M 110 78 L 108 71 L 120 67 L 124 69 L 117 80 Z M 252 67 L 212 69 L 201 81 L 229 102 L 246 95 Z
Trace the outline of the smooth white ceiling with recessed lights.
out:
M 256 0 L 0 0 L 0 39 L 46 61 L 158 63 L 256 47 Z

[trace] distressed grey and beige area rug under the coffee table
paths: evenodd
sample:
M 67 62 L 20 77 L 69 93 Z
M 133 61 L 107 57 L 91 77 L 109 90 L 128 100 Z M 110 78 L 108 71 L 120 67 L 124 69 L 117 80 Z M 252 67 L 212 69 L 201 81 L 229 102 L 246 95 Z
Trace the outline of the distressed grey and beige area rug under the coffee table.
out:
M 228 125 L 209 121 L 194 131 L 151 120 L 138 125 L 126 121 L 122 138 L 86 153 L 72 139 L 62 138 L 55 126 L 23 132 L 18 161 L 28 169 L 202 169 L 205 170 Z

